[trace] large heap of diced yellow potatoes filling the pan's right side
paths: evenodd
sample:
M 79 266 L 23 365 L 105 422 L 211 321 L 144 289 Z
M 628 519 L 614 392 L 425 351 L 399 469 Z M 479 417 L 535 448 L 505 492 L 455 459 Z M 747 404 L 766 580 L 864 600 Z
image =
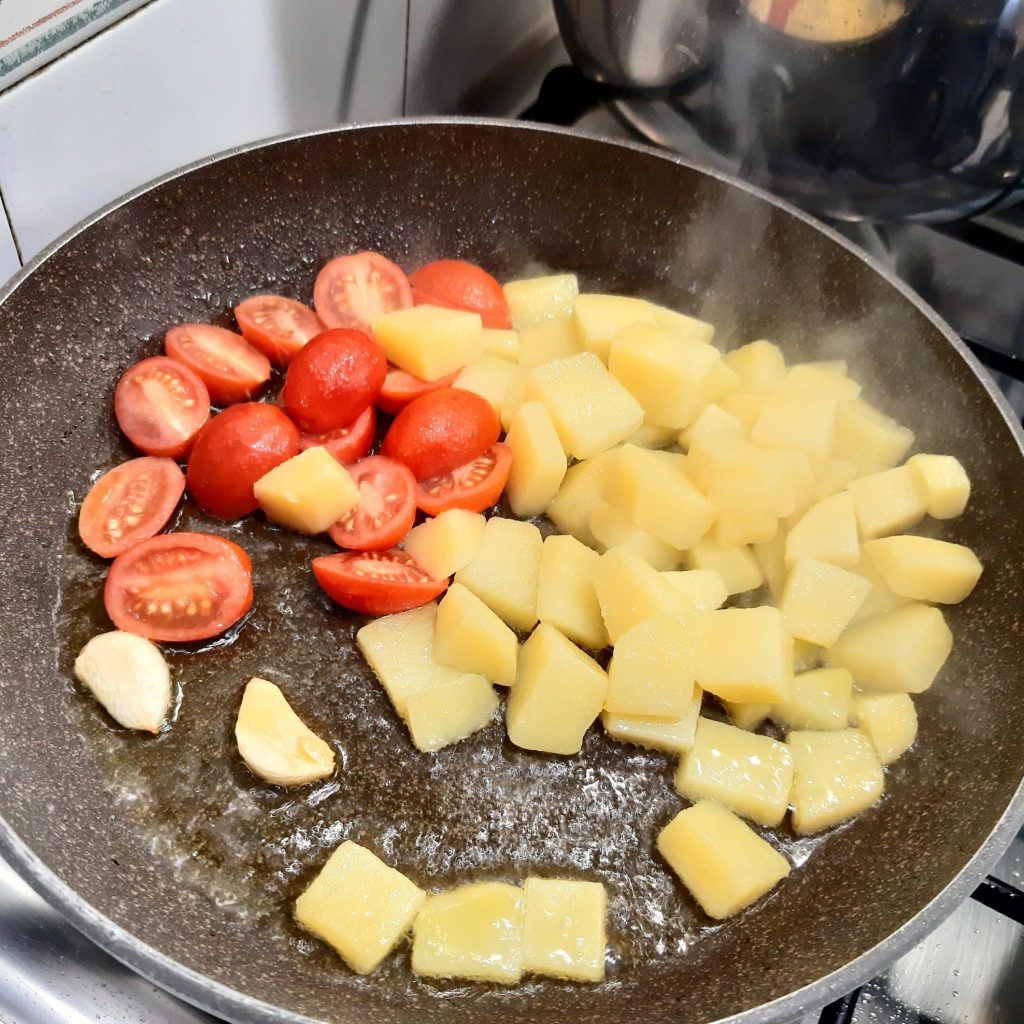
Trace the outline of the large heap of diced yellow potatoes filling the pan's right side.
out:
M 913 742 L 911 695 L 952 644 L 938 605 L 982 566 L 904 531 L 959 515 L 967 474 L 948 456 L 904 462 L 913 434 L 845 362 L 786 366 L 767 341 L 723 355 L 711 325 L 581 295 L 567 274 L 505 291 L 517 330 L 488 332 L 456 386 L 501 414 L 524 518 L 454 510 L 416 527 L 407 550 L 454 582 L 365 626 L 359 647 L 420 750 L 490 723 L 499 685 L 525 750 L 578 754 L 600 718 L 678 756 L 689 806 L 657 848 L 710 916 L 730 916 L 790 871 L 764 828 L 790 813 L 809 835 L 865 810 Z M 540 515 L 560 532 L 525 521 Z M 417 955 L 416 936 L 415 970 L 476 976 Z

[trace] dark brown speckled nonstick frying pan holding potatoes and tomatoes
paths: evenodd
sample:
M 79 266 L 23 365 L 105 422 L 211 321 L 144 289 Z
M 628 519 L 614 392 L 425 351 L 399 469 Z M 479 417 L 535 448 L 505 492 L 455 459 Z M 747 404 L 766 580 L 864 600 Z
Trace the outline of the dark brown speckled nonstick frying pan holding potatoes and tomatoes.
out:
M 412 267 L 465 257 L 509 278 L 573 269 L 756 337 L 792 358 L 846 357 L 867 396 L 957 456 L 974 494 L 943 536 L 986 565 L 949 609 L 956 643 L 919 701 L 916 746 L 882 803 L 818 840 L 761 905 L 711 927 L 653 849 L 680 808 L 666 757 L 591 730 L 578 758 L 512 748 L 501 723 L 415 751 L 361 659 L 357 616 L 308 571 L 326 550 L 249 520 L 181 528 L 239 540 L 256 600 L 237 635 L 169 648 L 181 700 L 157 738 L 118 730 L 70 667 L 108 629 L 102 564 L 74 537 L 90 474 L 130 454 L 119 374 L 183 321 L 228 324 L 260 291 L 307 299 L 329 257 Z M 1024 803 L 1024 462 L 1012 414 L 920 300 L 836 234 L 735 181 L 639 145 L 511 123 L 331 130 L 172 174 L 75 228 L 0 303 L 4 536 L 0 848 L 116 956 L 241 1021 L 776 1021 L 878 973 L 976 885 Z M 339 751 L 311 790 L 255 784 L 230 741 L 252 675 L 280 683 Z M 358 979 L 291 922 L 291 899 L 344 838 L 423 885 L 529 873 L 603 880 L 608 980 L 516 989 L 422 982 L 408 951 Z

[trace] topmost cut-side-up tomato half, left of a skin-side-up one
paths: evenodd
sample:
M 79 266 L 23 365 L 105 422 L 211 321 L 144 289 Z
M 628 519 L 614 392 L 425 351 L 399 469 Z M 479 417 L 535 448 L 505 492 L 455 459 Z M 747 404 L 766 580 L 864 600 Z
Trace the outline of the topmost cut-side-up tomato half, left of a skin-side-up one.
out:
M 413 304 L 409 279 L 380 253 L 338 256 L 313 285 L 313 307 L 326 327 L 369 331 L 375 316 Z

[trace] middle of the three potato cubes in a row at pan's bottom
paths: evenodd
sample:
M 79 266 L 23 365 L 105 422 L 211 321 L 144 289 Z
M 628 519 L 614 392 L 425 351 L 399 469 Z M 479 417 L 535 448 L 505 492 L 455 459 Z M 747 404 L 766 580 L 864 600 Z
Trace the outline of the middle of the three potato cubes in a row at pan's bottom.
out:
M 428 896 L 413 926 L 413 972 L 516 984 L 522 977 L 524 904 L 521 889 L 501 882 Z

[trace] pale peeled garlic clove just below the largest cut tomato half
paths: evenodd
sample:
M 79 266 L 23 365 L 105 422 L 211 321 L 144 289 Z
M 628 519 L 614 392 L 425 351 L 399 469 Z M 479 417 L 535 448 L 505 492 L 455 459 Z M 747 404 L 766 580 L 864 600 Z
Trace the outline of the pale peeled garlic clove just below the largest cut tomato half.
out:
M 171 706 L 171 673 L 156 644 L 115 630 L 93 637 L 75 675 L 126 729 L 159 732 Z

